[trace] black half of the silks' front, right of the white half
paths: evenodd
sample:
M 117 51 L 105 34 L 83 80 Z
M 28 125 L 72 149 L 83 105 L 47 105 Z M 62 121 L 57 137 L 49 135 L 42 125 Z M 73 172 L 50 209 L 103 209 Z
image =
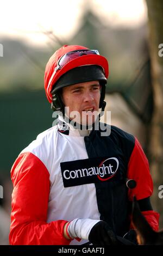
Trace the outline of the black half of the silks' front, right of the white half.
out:
M 111 126 L 110 136 L 101 136 L 101 131 L 92 131 L 84 138 L 87 155 L 92 157 L 114 157 L 119 166 L 111 179 L 95 183 L 97 205 L 101 220 L 108 222 L 117 235 L 123 236 L 129 229 L 131 205 L 128 188 L 124 181 L 128 162 L 134 149 L 135 138 L 129 133 Z

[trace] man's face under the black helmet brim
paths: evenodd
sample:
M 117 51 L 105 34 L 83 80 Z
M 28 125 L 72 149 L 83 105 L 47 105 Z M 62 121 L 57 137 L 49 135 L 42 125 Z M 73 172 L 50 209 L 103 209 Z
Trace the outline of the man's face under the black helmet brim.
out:
M 101 97 L 100 84 L 98 81 L 74 84 L 62 89 L 62 100 L 67 108 L 66 114 L 70 120 L 75 120 L 83 125 L 95 122 L 99 100 Z M 78 116 L 76 113 L 78 113 Z

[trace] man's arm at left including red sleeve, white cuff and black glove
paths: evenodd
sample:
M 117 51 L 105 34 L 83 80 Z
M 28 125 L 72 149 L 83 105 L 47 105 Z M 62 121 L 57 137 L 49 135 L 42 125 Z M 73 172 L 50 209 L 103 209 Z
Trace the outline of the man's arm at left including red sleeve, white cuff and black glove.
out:
M 100 220 L 74 219 L 47 223 L 49 173 L 32 153 L 23 153 L 11 169 L 14 185 L 9 241 L 11 245 L 69 245 L 73 239 L 93 244 L 116 242 L 108 224 Z

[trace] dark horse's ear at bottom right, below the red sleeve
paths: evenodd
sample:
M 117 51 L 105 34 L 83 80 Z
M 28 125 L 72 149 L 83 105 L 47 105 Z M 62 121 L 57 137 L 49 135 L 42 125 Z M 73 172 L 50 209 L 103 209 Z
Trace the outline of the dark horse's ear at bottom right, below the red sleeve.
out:
M 156 239 L 156 232 L 146 221 L 145 217 L 141 214 L 139 204 L 136 197 L 133 198 L 132 222 L 139 237 L 138 242 L 145 244 L 154 243 Z

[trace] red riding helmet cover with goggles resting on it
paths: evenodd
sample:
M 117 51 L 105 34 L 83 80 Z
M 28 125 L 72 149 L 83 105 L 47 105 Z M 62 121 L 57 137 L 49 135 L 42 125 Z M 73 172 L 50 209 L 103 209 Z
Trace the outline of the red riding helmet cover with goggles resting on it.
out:
M 83 50 L 82 54 L 78 54 Z M 98 65 L 103 68 L 104 76 L 108 78 L 109 66 L 105 57 L 99 55 L 97 50 L 90 50 L 80 45 L 64 45 L 48 60 L 45 69 L 45 91 L 48 101 L 52 102 L 52 88 L 67 71 L 78 66 Z

